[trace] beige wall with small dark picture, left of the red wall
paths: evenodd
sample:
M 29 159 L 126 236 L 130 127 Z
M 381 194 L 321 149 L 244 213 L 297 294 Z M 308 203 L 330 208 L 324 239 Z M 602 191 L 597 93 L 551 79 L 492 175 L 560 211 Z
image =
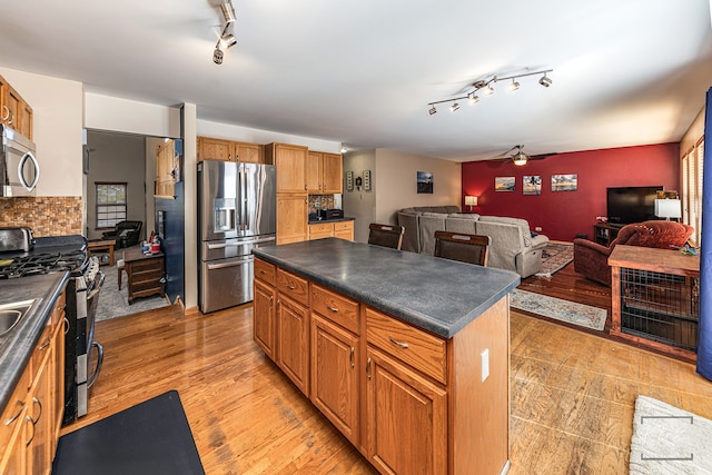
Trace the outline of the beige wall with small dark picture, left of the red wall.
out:
M 433 172 L 433 194 L 418 194 L 418 171 Z M 397 220 L 398 209 L 412 206 L 444 206 L 462 202 L 462 166 L 437 158 L 376 149 L 376 220 Z

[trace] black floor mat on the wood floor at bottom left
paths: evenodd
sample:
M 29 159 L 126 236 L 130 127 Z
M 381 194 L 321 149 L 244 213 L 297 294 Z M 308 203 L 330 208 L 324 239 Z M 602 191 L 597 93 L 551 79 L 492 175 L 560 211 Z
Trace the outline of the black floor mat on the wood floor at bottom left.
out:
M 59 438 L 53 475 L 205 474 L 178 392 Z

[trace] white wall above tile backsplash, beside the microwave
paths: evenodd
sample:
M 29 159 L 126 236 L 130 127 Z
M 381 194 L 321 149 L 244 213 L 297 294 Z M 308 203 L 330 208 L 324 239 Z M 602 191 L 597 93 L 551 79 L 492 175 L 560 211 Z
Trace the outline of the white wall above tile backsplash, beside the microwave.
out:
M 82 195 L 81 82 L 0 68 L 0 76 L 32 107 L 33 141 L 40 162 L 38 196 Z

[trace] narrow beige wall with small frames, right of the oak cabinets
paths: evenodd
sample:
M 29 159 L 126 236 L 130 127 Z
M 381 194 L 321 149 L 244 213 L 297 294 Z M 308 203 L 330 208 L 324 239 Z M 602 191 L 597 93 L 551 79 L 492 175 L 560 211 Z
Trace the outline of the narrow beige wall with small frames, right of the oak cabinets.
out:
M 372 171 L 372 189 L 366 191 L 354 189 L 348 191 L 346 182 L 344 182 L 344 216 L 356 218 L 354 221 L 354 239 L 359 243 L 368 241 L 368 225 L 378 222 L 376 219 L 376 189 L 377 177 L 376 170 L 376 150 L 349 151 L 344 155 L 344 174 L 354 172 L 356 177 L 364 176 L 364 170 Z M 383 222 L 387 224 L 387 222 Z

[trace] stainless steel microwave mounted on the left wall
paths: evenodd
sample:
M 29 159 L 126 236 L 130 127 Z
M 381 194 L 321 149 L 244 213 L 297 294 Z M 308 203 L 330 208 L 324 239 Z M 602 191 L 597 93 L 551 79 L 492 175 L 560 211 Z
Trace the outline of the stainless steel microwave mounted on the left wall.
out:
M 40 165 L 34 144 L 17 130 L 0 125 L 0 197 L 34 196 L 40 179 Z

